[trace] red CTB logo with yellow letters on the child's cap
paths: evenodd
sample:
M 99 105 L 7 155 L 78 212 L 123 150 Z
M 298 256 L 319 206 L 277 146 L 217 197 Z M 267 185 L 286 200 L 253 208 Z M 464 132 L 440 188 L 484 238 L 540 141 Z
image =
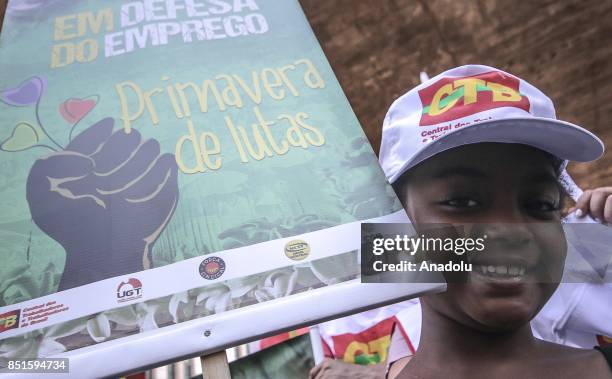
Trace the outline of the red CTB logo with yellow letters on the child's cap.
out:
M 420 126 L 436 125 L 500 107 L 529 112 L 529 99 L 519 80 L 499 71 L 464 78 L 443 78 L 419 91 L 423 104 Z

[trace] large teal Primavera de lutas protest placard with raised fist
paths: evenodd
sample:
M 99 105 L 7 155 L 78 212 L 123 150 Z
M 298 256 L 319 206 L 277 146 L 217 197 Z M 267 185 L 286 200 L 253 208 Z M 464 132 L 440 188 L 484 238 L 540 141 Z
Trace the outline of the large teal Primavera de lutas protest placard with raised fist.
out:
M 406 218 L 297 1 L 12 1 L 0 67 L 3 366 L 118 375 L 441 288 L 359 283 L 360 222 Z

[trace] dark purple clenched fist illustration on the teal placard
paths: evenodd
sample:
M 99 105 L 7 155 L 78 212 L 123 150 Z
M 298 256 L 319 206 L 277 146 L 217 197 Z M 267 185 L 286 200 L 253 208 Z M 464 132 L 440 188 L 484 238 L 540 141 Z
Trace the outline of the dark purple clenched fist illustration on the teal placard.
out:
M 149 268 L 176 208 L 174 155 L 113 127 L 99 121 L 30 170 L 32 219 L 66 250 L 58 291 Z

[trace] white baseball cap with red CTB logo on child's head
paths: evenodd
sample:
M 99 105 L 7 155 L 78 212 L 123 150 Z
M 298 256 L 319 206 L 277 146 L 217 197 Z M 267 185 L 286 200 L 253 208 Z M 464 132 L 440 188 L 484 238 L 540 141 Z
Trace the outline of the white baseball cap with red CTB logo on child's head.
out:
M 519 143 L 589 162 L 604 145 L 557 120 L 552 101 L 526 81 L 482 65 L 445 71 L 397 99 L 383 124 L 379 160 L 389 183 L 442 151 L 471 143 Z

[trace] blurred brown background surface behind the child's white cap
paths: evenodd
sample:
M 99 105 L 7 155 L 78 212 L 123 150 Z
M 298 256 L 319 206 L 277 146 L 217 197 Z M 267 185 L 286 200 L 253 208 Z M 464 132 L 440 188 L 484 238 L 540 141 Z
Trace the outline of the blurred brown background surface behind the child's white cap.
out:
M 287 0 L 283 0 L 287 1 Z M 7 0 L 0 0 L 0 20 Z M 453 66 L 481 63 L 548 94 L 557 115 L 612 148 L 612 2 L 599 0 L 300 0 L 376 150 L 391 102 Z M 519 5 L 520 4 L 520 5 Z M 570 171 L 612 185 L 612 153 Z

